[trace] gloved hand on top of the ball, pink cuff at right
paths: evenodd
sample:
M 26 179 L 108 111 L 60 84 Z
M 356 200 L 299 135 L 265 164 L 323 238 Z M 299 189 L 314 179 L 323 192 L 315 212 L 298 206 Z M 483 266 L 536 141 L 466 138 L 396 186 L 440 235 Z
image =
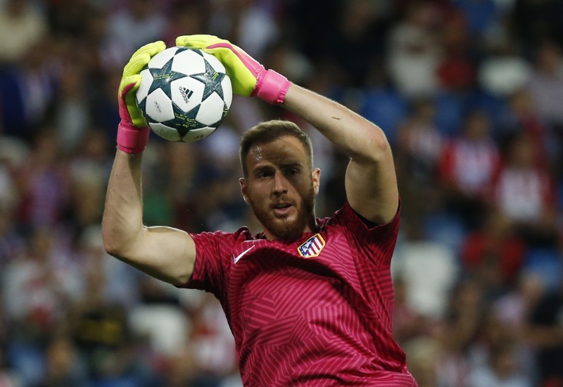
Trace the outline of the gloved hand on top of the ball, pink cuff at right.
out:
M 225 39 L 214 35 L 184 35 L 176 38 L 177 46 L 202 49 L 217 57 L 231 78 L 234 94 L 258 96 L 268 103 L 282 103 L 291 82 L 263 65 Z

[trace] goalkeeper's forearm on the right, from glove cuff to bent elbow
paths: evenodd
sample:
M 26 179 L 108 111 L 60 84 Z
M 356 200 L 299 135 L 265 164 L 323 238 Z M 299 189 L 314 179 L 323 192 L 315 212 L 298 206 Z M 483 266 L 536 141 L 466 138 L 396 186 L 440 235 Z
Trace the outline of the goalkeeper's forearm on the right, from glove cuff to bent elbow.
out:
M 373 161 L 388 150 L 384 132 L 372 122 L 313 91 L 292 84 L 283 103 L 355 160 Z

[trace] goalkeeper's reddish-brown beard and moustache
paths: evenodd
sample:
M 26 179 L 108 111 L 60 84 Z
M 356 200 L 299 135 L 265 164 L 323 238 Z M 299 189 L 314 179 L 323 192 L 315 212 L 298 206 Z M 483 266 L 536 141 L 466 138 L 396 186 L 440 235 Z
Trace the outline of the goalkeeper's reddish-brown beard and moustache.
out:
M 282 200 L 284 200 L 283 196 L 280 198 L 280 201 Z M 293 220 L 275 217 L 270 203 L 260 205 L 250 198 L 250 204 L 262 227 L 282 241 L 299 239 L 310 222 L 315 222 L 315 191 L 312 183 L 308 192 L 303 196 L 303 202 L 296 207 L 297 217 Z

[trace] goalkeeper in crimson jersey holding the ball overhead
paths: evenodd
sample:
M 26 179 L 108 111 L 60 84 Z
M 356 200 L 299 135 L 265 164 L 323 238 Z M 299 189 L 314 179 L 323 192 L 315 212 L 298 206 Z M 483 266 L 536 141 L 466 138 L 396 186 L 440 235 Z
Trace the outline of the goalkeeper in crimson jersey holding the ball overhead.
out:
M 176 44 L 213 54 L 235 94 L 279 104 L 346 151 L 347 201 L 329 218 L 315 216 L 321 172 L 310 139 L 292 122 L 272 120 L 243 134 L 239 151 L 241 194 L 262 232 L 144 226 L 148 129 L 134 92 L 141 68 L 165 49 L 156 42 L 134 53 L 119 87 L 122 120 L 103 215 L 108 253 L 175 286 L 212 292 L 234 335 L 245 386 L 417 386 L 392 336 L 400 206 L 384 133 L 224 39 L 191 35 Z

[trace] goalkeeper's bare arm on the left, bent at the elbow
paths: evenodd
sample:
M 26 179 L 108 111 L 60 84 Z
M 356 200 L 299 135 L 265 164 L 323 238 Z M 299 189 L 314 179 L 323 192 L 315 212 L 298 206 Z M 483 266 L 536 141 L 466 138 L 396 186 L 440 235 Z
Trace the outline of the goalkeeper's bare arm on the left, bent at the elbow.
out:
M 141 159 L 142 153 L 115 155 L 103 212 L 104 247 L 152 277 L 185 284 L 194 270 L 196 246 L 185 231 L 144 226 Z

